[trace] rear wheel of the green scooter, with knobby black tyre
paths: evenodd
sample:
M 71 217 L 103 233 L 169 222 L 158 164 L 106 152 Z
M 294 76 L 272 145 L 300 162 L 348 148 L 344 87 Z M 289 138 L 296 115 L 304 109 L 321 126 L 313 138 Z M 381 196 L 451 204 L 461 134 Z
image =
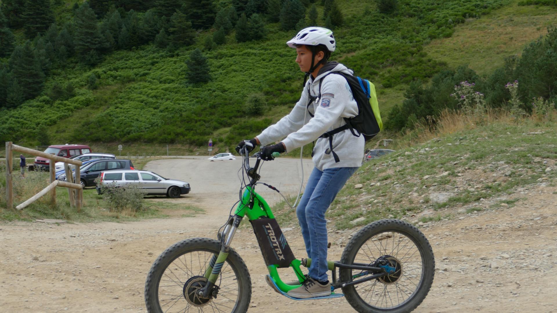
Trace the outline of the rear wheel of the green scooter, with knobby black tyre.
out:
M 418 228 L 398 219 L 382 219 L 360 229 L 344 249 L 341 263 L 384 267 L 389 275 L 343 287 L 360 313 L 407 313 L 425 299 L 433 282 L 433 250 Z M 340 269 L 340 280 L 374 273 Z

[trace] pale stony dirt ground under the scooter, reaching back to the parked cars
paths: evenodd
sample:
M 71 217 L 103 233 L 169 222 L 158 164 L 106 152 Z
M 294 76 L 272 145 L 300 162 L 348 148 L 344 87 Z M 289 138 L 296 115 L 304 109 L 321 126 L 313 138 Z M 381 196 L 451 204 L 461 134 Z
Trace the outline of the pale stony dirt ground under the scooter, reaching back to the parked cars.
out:
M 0 223 L 0 312 L 144 312 L 145 276 L 159 253 L 185 238 L 216 237 L 231 199 L 237 199 L 240 162 L 232 162 L 159 160 L 146 167 L 192 183 L 192 194 L 178 201 L 206 209 L 197 217 L 61 226 Z M 292 162 L 268 162 L 261 174 L 272 174 L 270 183 L 277 188 L 278 177 L 286 175 L 292 186 L 281 188 L 297 192 Z M 309 172 L 311 165 L 305 166 Z M 557 188 L 532 187 L 520 197 L 514 207 L 422 227 L 436 256 L 436 276 L 415 312 L 557 312 Z M 331 231 L 329 241 L 345 243 L 352 232 Z M 294 254 L 304 257 L 299 228 L 285 235 Z M 355 312 L 342 298 L 294 301 L 272 291 L 248 229 L 237 233 L 233 246 L 253 282 L 248 312 Z M 340 258 L 342 246 L 331 247 L 330 259 Z

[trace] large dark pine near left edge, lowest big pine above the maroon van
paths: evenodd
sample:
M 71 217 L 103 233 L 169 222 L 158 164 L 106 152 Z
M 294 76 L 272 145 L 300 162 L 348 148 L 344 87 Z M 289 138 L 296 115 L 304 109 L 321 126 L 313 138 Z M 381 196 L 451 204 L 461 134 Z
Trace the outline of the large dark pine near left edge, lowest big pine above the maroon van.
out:
M 9 67 L 13 79 L 17 80 L 17 85 L 21 87 L 23 100 L 32 99 L 41 92 L 45 74 L 33 53 L 30 41 L 14 49 Z

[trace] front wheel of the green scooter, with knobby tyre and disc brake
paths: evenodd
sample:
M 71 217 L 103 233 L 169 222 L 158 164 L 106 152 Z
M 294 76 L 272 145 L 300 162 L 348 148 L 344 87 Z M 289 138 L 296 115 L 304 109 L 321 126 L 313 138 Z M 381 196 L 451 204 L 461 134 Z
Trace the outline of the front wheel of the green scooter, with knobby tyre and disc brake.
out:
M 246 263 L 230 250 L 215 285 L 214 297 L 200 298 L 195 291 L 207 284 L 203 276 L 220 243 L 192 238 L 173 244 L 153 263 L 145 282 L 149 313 L 233 312 L 245 313 L 251 300 L 251 278 Z

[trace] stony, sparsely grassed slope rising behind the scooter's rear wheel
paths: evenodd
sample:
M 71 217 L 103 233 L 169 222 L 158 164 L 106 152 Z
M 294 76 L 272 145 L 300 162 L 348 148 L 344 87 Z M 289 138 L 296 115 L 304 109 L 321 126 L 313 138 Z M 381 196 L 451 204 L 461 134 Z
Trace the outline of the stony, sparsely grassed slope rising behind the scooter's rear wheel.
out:
M 557 112 L 516 118 L 445 114 L 436 133 L 372 159 L 356 172 L 326 214 L 336 229 L 382 218 L 414 224 L 512 206 L 522 192 L 557 178 Z M 277 204 L 282 222 L 294 209 Z

